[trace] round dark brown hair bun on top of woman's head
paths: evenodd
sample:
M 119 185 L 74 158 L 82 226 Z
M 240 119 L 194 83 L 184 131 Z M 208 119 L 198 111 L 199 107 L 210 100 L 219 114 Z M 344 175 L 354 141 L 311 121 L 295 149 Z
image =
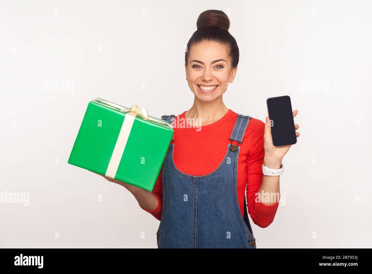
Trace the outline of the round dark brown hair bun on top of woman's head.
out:
M 222 10 L 205 10 L 199 15 L 196 21 L 196 28 L 200 29 L 211 26 L 228 31 L 230 20 Z

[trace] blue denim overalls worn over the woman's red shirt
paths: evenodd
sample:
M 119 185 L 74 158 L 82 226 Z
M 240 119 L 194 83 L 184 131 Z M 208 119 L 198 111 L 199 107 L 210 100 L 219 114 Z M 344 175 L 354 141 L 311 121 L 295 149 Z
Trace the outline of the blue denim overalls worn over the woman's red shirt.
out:
M 170 123 L 174 115 L 161 116 Z M 163 208 L 158 248 L 256 248 L 244 197 L 244 218 L 237 196 L 240 147 L 250 116 L 238 114 L 226 155 L 212 173 L 193 176 L 173 161 L 174 135 L 163 163 Z M 195 144 L 198 145 L 198 144 Z M 208 159 L 206 159 L 208 160 Z

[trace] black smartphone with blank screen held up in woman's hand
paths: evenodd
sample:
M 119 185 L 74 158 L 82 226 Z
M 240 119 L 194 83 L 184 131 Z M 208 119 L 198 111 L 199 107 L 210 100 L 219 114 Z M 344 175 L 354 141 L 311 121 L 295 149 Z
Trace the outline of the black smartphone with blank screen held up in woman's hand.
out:
M 288 95 L 267 98 L 271 136 L 275 147 L 294 145 L 297 142 L 291 98 Z

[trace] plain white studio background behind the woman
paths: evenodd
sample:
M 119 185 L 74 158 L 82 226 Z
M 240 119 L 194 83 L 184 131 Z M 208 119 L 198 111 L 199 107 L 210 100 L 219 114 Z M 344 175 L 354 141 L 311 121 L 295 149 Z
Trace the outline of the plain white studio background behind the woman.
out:
M 0 203 L 0 247 L 157 247 L 159 221 L 130 192 L 67 160 L 96 97 L 157 117 L 188 110 L 185 45 L 199 14 L 218 9 L 240 49 L 227 107 L 264 121 L 266 98 L 289 95 L 299 110 L 301 136 L 280 176 L 285 203 L 269 227 L 251 222 L 257 248 L 371 248 L 371 7 L 2 0 L 0 192 L 28 192 L 30 204 Z M 48 91 L 50 79 L 74 88 Z M 305 81 L 328 88 L 304 90 Z

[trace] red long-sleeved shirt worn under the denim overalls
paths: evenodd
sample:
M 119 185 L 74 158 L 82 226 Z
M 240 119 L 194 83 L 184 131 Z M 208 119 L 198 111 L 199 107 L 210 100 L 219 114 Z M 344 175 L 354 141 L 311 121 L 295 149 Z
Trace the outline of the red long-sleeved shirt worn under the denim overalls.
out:
M 184 111 L 174 117 L 174 123 L 185 121 Z M 231 109 L 218 121 L 201 126 L 201 130 L 195 127 L 174 127 L 174 164 L 183 173 L 201 176 L 213 172 L 226 154 L 226 145 L 234 128 L 238 114 Z M 177 125 L 177 124 L 176 124 Z M 279 205 L 279 199 L 272 205 L 265 205 L 259 201 L 258 193 L 262 183 L 262 164 L 265 151 L 263 149 L 264 122 L 251 118 L 243 137 L 243 144 L 239 144 L 238 157 L 237 193 L 242 217 L 244 206 L 253 223 L 260 227 L 267 227 L 274 220 Z M 237 144 L 237 142 L 233 142 Z M 201 149 L 202 148 L 202 149 Z M 163 187 L 161 179 L 162 169 L 155 183 L 153 194 L 158 198 L 158 205 L 154 210 L 147 210 L 158 220 L 161 219 L 163 204 Z M 247 190 L 247 205 L 244 205 L 244 196 Z

